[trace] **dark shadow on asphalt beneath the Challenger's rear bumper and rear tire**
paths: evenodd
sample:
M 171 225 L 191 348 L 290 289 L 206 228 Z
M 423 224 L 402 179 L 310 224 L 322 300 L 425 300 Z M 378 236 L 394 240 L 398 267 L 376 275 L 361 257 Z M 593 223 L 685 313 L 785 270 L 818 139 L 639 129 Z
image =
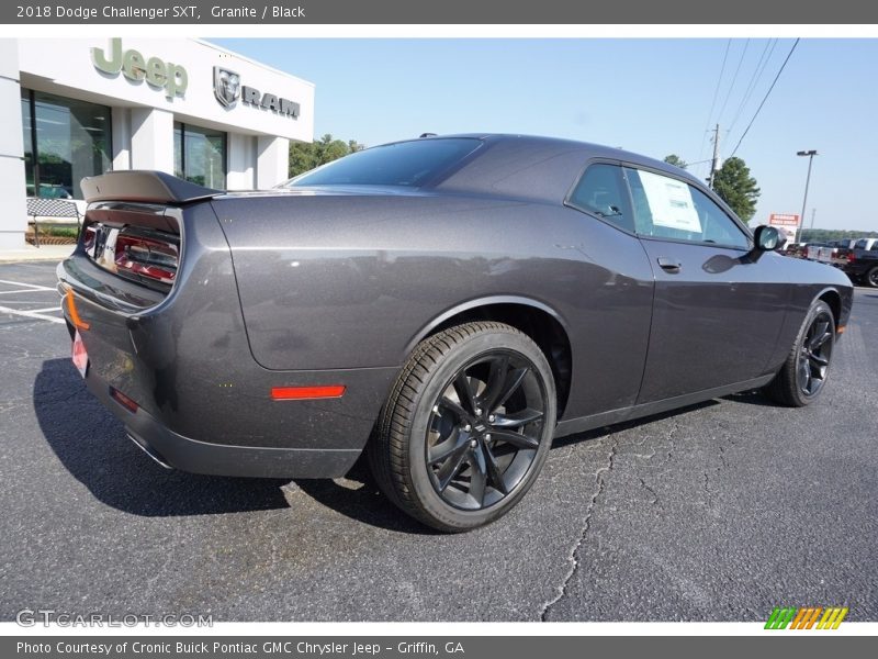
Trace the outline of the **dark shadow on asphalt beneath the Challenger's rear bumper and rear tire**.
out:
M 102 503 L 148 517 L 210 515 L 291 507 L 296 490 L 347 517 L 391 530 L 432 534 L 384 498 L 358 461 L 344 479 L 201 476 L 160 467 L 86 388 L 69 359 L 43 362 L 33 404 L 48 446 Z

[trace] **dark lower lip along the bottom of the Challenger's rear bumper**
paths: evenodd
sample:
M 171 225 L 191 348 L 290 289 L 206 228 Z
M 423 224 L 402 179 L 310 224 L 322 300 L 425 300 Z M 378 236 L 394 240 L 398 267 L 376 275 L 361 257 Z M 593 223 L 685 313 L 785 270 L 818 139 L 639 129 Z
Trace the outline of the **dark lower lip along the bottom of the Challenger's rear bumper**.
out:
M 125 425 L 130 438 L 162 467 L 214 476 L 338 478 L 347 473 L 361 453 L 199 442 L 169 429 L 143 407 L 131 412 L 110 395 L 110 386 L 94 373 L 87 373 L 86 384 Z

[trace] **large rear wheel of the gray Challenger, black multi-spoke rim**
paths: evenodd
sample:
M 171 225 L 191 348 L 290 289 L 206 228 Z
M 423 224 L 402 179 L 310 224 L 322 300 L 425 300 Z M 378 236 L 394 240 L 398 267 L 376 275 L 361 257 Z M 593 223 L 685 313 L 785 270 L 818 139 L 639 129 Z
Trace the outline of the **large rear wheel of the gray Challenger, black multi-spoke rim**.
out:
M 466 323 L 409 356 L 367 448 L 384 494 L 438 530 L 505 515 L 537 479 L 552 443 L 552 370 L 525 334 Z

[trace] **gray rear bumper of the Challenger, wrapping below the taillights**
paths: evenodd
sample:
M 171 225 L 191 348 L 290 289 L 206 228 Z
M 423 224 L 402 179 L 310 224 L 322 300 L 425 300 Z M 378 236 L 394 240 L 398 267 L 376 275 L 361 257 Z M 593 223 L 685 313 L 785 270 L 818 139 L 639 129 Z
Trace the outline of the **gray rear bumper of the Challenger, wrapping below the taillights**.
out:
M 108 272 L 81 248 L 57 269 L 68 324 L 88 353 L 89 390 L 160 462 L 195 473 L 334 478 L 369 439 L 396 367 L 270 370 L 247 343 L 228 245 L 210 205 L 187 209 L 167 297 Z M 328 323 L 331 325 L 331 323 Z M 308 337 L 278 336 L 279 345 Z M 275 388 L 344 386 L 339 398 L 274 400 Z M 136 403 L 132 413 L 115 389 Z

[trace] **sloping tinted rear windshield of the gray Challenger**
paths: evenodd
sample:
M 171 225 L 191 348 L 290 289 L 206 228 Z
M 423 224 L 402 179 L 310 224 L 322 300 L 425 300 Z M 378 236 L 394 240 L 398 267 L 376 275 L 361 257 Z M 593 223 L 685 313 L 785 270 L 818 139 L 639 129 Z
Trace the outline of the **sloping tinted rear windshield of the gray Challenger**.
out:
M 289 180 L 284 186 L 412 186 L 426 183 L 481 145 L 469 137 L 375 146 Z

